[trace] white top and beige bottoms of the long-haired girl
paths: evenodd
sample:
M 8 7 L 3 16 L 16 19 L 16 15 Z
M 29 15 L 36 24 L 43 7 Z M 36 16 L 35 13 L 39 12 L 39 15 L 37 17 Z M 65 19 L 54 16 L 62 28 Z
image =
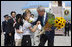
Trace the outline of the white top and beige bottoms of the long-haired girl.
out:
M 22 26 L 16 26 L 16 29 L 22 31 Z M 21 46 L 22 33 L 17 33 L 15 29 L 15 46 Z

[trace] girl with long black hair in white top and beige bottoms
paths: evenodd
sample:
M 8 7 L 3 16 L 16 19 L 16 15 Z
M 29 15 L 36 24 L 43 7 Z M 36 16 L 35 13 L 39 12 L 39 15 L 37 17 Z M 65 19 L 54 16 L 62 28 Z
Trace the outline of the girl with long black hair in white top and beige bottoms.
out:
M 21 46 L 22 40 L 22 17 L 21 14 L 16 15 L 16 24 L 15 24 L 15 46 Z

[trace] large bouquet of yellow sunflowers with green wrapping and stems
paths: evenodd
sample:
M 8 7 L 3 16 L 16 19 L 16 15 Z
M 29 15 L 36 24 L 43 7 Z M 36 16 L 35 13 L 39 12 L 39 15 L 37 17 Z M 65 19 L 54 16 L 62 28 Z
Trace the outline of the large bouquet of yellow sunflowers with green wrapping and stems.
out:
M 65 27 L 66 20 L 63 17 L 54 17 L 53 14 L 48 13 L 48 20 L 43 27 L 43 31 L 40 32 L 40 35 L 45 32 L 46 29 L 51 29 L 51 27 L 55 26 L 57 29 L 61 29 Z

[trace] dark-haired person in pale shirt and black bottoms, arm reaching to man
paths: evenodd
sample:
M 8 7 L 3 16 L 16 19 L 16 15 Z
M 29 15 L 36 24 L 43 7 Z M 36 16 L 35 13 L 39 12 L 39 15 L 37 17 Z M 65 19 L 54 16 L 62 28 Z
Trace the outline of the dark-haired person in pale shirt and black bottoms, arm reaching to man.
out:
M 32 28 L 31 23 L 29 23 L 30 16 L 27 15 L 27 13 L 24 13 L 24 24 L 23 24 L 23 37 L 22 37 L 22 46 L 31 46 L 31 32 L 34 32 L 36 28 L 38 27 L 37 24 Z

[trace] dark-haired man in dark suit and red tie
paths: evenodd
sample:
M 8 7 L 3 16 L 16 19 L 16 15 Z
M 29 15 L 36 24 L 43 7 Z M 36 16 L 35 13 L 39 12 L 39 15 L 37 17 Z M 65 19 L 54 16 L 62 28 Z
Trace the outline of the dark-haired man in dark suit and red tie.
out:
M 9 36 L 10 36 L 10 44 L 11 46 L 15 46 L 15 41 L 14 41 L 14 34 L 15 34 L 15 23 L 16 23 L 16 12 L 12 11 L 11 12 L 11 18 L 8 20 L 8 26 L 9 26 Z

